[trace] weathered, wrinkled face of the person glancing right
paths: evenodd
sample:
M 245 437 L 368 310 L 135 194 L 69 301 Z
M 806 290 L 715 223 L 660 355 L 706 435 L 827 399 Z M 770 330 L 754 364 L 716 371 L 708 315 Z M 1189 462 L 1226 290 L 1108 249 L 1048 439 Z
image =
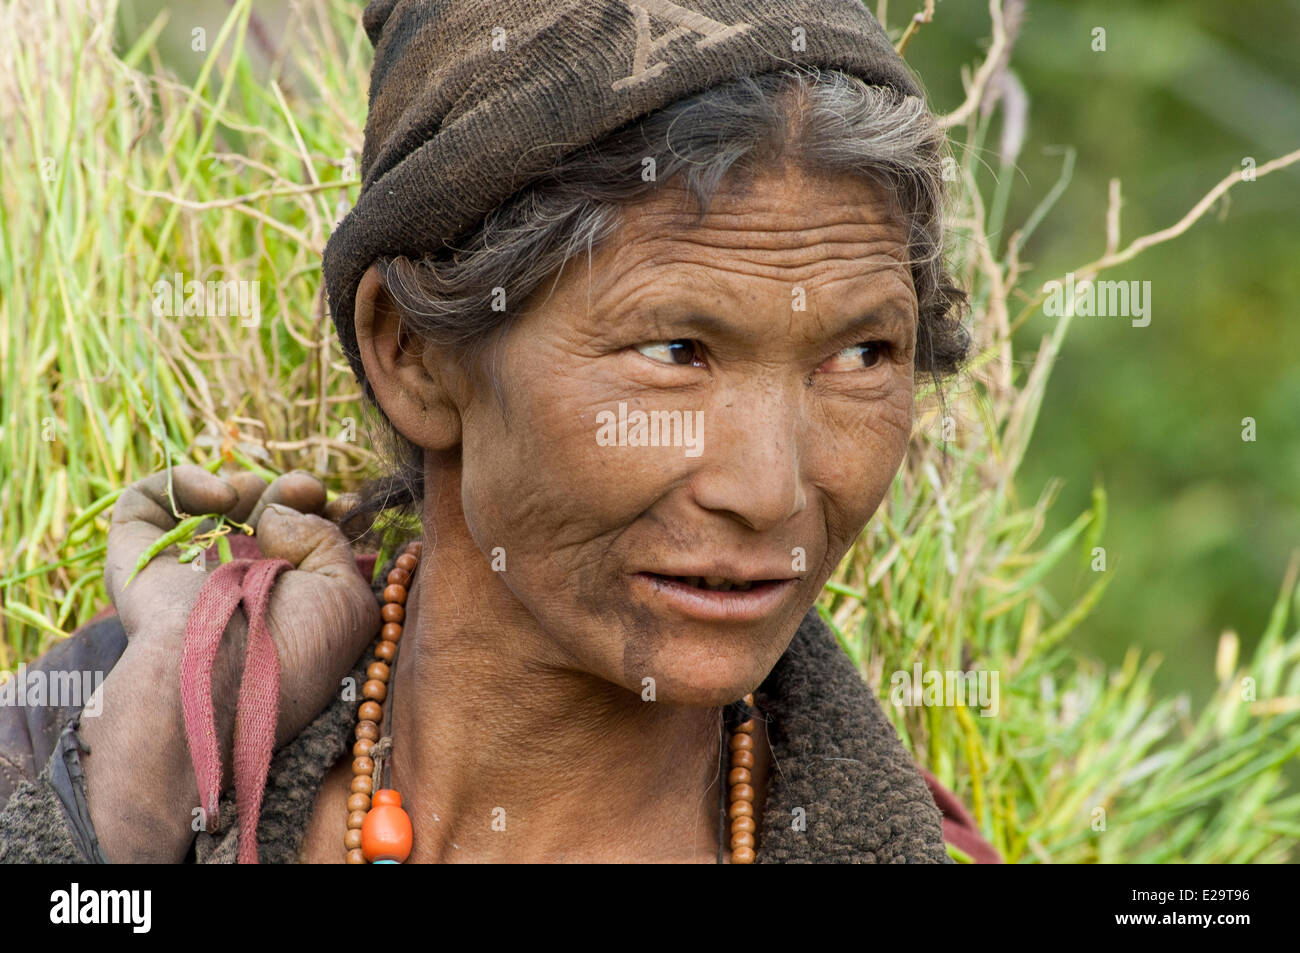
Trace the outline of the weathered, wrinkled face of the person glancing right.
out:
M 528 302 L 504 404 L 462 408 L 462 501 L 551 660 L 660 702 L 759 685 L 906 450 L 905 238 L 875 186 L 774 168 L 699 226 L 666 187 Z

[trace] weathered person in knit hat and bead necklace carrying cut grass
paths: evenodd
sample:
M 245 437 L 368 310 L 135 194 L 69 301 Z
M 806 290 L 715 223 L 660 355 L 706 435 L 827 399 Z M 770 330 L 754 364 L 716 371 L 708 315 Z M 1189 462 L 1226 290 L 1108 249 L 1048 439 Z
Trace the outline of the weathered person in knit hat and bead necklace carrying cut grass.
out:
M 391 473 L 338 523 L 300 473 L 129 488 L 117 615 L 38 663 L 107 657 L 103 711 L 5 729 L 39 776 L 0 857 L 945 862 L 949 822 L 982 848 L 812 608 L 916 374 L 966 351 L 942 137 L 879 25 L 858 0 L 364 22 L 363 187 L 324 272 Z M 256 524 L 229 592 L 166 558 L 125 585 L 177 510 Z M 403 510 L 422 536 L 372 589 L 343 530 Z

